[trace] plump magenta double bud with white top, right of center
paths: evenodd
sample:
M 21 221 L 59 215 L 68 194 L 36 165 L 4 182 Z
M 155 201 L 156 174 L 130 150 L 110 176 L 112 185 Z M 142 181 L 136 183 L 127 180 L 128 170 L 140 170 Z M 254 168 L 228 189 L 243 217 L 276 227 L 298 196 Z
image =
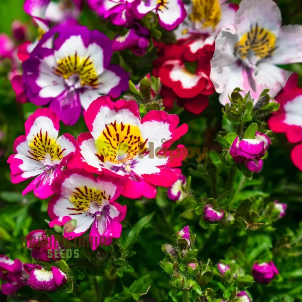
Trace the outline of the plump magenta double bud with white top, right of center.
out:
M 235 162 L 244 163 L 250 171 L 259 173 L 263 165 L 261 157 L 265 155 L 270 144 L 269 137 L 257 131 L 255 139 L 239 141 L 239 137 L 236 137 L 230 148 L 230 155 Z

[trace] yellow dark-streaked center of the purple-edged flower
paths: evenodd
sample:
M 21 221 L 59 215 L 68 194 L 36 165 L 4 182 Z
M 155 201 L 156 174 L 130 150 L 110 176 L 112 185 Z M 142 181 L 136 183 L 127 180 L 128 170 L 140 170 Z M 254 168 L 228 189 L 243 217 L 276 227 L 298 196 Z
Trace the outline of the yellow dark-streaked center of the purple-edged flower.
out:
M 98 75 L 90 56 L 81 58 L 77 52 L 74 56 L 67 56 L 57 62 L 55 73 L 63 76 L 64 79 L 69 79 L 72 75 L 77 75 L 81 86 L 89 85 L 94 88 L 98 87 Z

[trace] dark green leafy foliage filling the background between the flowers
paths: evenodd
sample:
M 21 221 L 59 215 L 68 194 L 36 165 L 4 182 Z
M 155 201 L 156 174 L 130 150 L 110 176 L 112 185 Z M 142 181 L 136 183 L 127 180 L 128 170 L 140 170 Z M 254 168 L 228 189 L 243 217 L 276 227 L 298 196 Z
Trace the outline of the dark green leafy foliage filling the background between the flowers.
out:
M 282 11 L 283 24 L 302 23 L 302 2 L 294 0 L 276 2 Z M 0 32 L 10 34 L 11 22 L 15 19 L 30 22 L 23 11 L 23 1 L 1 0 Z M 81 23 L 91 29 L 98 29 L 111 38 L 115 33 L 121 33 L 124 30 L 108 23 L 102 24 L 87 7 L 81 16 Z M 34 33 L 34 29 L 31 28 L 31 30 Z M 123 51 L 121 54 L 114 55 L 113 62 L 120 63 L 132 72 L 131 79 L 136 83 L 138 79 L 151 71 L 154 58 L 155 52 L 152 49 L 142 58 Z M 286 67 L 302 75 L 301 64 Z M 21 236 L 27 235 L 31 230 L 48 228 L 45 221 L 49 219 L 48 200 L 38 200 L 32 193 L 23 197 L 21 191 L 26 184 L 14 185 L 10 181 L 7 157 L 13 153 L 15 138 L 24 134 L 24 120 L 35 111 L 36 106 L 31 103 L 22 105 L 15 102 L 14 92 L 6 78 L 7 71 L 8 66 L 5 64 L 0 67 L 0 130 L 5 135 L 0 143 L 0 149 L 4 152 L 4 155 L 0 157 L 0 254 L 31 262 L 30 252 L 21 247 Z M 302 84 L 302 77 L 300 77 L 300 83 Z M 179 114 L 181 123 L 189 125 L 188 133 L 179 143 L 192 147 L 199 146 L 201 149 L 207 147 L 208 152 L 210 150 L 220 152 L 215 136 L 222 127 L 227 129 L 229 126 L 222 120 L 221 105 L 217 95 L 211 96 L 210 106 L 199 116 L 177 108 L 174 112 Z M 60 133 L 69 132 L 75 137 L 86 131 L 82 118 L 75 126 L 66 127 L 63 124 L 60 126 Z M 272 140 L 272 146 L 269 147 L 269 155 L 265 159 L 261 173 L 254 175 L 253 180 L 245 179 L 243 182 L 240 172 L 236 175 L 234 207 L 238 207 L 239 203 L 246 198 L 254 198 L 254 200 L 262 198 L 265 203 L 278 199 L 288 204 L 286 216 L 276 221 L 273 224 L 274 228 L 265 230 L 260 228 L 254 231 L 230 230 L 216 225 L 209 226 L 207 229 L 202 228 L 199 225 L 199 218 L 194 214 L 194 207 L 201 204 L 201 197 L 210 198 L 213 194 L 204 178 L 204 173 L 207 177 L 211 177 L 209 170 L 203 172 L 195 157 L 188 159 L 183 165 L 183 174 L 192 175 L 194 201 L 188 201 L 185 205 L 175 205 L 167 200 L 165 189 L 161 188 L 154 200 L 133 201 L 120 198 L 119 202 L 127 204 L 128 208 L 127 217 L 123 223 L 122 238 L 119 241 L 124 247 L 124 252 L 121 252 L 117 246 L 112 250 L 110 247 L 100 249 L 97 253 L 81 249 L 80 259 L 86 257 L 86 263 L 83 261 L 75 265 L 72 259 L 67 261 L 76 280 L 71 294 L 66 294 L 63 290 L 54 294 L 43 294 L 33 292 L 30 288 L 22 288 L 21 297 L 11 298 L 10 301 L 25 301 L 32 298 L 39 301 L 92 302 L 102 301 L 105 297 L 107 297 L 105 299 L 107 302 L 133 301 L 133 298 L 139 300 L 148 297 L 156 301 L 177 301 L 179 298 L 172 297 L 177 291 L 171 291 L 172 287 L 168 284 L 169 276 L 158 265 L 158 262 L 164 258 L 164 253 L 161 252 L 162 244 L 173 243 L 174 232 L 186 224 L 189 224 L 192 232 L 197 235 L 195 248 L 198 249 L 198 260 L 206 261 L 210 258 L 213 265 L 216 265 L 220 259 L 235 259 L 247 274 L 250 274 L 255 261 L 271 259 L 274 261 L 280 271 L 280 277 L 266 287 L 252 284 L 248 291 L 253 301 L 302 301 L 302 223 L 300 223 L 302 173 L 291 162 L 292 147 L 293 144 L 288 143 L 283 134 L 276 135 Z M 217 185 L 226 181 L 227 176 L 222 175 Z M 136 224 L 138 221 L 140 223 Z M 283 243 L 280 241 L 282 238 L 285 238 Z M 116 259 L 124 258 L 126 258 L 124 262 L 122 260 L 119 260 L 120 263 L 116 262 Z M 87 259 L 92 261 L 91 265 L 87 265 Z M 109 278 L 112 263 L 115 263 L 115 268 L 118 270 L 118 275 L 113 279 Z M 119 270 L 119 268 L 122 269 Z M 207 287 L 217 285 L 211 282 L 207 284 Z M 144 293 L 146 294 L 141 295 Z M 6 299 L 1 295 L 1 301 Z

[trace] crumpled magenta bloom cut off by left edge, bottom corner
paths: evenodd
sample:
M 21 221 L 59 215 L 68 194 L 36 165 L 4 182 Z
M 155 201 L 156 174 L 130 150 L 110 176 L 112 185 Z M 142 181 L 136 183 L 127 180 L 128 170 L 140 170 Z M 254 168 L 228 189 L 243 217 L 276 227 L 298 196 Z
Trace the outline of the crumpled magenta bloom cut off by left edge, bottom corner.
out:
M 19 259 L 11 260 L 8 256 L 0 255 L 1 291 L 12 296 L 22 286 L 27 285 L 28 275 Z

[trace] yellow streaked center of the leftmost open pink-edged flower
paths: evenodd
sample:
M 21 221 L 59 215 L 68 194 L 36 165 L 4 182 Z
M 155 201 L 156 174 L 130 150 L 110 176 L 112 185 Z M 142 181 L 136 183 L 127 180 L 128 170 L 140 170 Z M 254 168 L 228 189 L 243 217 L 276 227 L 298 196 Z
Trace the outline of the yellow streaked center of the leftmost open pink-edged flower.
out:
M 66 150 L 61 149 L 60 146 L 56 144 L 56 140 L 48 136 L 47 131 L 42 133 L 42 129 L 40 133 L 34 136 L 34 140 L 32 140 L 28 146 L 31 148 L 31 151 L 28 151 L 30 157 L 41 162 L 49 156 L 52 161 L 61 160 L 63 158 L 62 154 Z

